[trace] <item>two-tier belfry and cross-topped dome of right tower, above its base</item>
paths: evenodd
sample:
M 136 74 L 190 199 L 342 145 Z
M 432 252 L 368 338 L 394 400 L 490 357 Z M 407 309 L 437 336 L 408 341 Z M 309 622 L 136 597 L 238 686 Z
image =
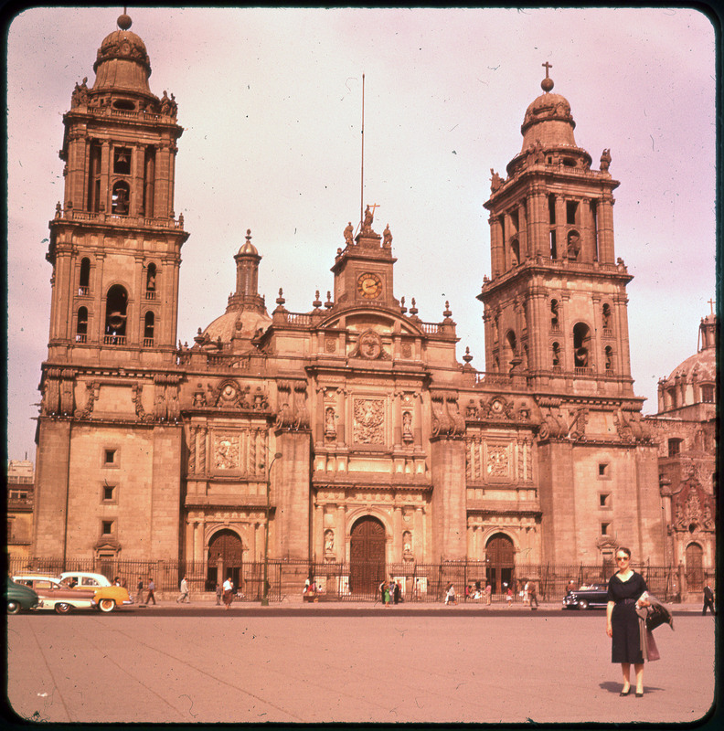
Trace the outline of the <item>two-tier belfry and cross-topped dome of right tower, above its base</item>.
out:
M 626 284 L 613 246 L 611 154 L 599 170 L 575 141 L 570 103 L 553 79 L 527 108 L 523 145 L 493 170 L 492 276 L 484 302 L 485 368 L 523 373 L 544 390 L 633 396 Z

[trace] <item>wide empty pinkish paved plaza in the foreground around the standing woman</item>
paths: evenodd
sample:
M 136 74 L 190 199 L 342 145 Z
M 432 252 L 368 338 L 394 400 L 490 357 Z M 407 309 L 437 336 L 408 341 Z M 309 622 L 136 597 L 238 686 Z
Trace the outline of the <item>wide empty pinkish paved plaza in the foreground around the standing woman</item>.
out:
M 619 697 L 602 611 L 208 605 L 8 617 L 8 698 L 41 722 L 693 722 L 715 621 L 656 630 Z

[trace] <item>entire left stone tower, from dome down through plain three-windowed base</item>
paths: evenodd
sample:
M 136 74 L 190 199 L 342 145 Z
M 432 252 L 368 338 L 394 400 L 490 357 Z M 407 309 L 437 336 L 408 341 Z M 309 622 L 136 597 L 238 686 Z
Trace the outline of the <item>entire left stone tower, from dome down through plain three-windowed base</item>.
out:
M 131 18 L 76 84 L 50 221 L 48 359 L 37 428 L 38 557 L 176 556 L 182 428 L 176 101 L 148 85 Z

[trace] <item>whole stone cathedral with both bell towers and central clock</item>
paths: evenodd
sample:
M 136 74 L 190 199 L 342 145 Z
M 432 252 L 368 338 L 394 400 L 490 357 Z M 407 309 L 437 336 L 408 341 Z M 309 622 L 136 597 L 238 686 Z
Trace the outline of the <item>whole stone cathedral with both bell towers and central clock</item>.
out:
M 33 554 L 211 571 L 268 552 L 353 574 L 467 560 L 498 585 L 496 567 L 602 564 L 622 544 L 664 565 L 655 429 L 630 368 L 632 276 L 614 246 L 619 184 L 608 151 L 595 169 L 577 145 L 548 69 L 520 151 L 481 200 L 484 372 L 458 360 L 449 307 L 423 322 L 395 297 L 374 207 L 330 242 L 334 286 L 305 313 L 282 291 L 268 312 L 248 231 L 226 312 L 188 346 L 183 128 L 130 26 L 119 18 L 63 117 Z

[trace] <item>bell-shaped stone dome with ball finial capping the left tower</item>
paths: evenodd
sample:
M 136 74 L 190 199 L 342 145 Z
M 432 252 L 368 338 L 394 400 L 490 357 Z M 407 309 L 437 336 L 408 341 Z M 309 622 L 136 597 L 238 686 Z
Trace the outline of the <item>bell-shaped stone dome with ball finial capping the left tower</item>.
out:
M 144 41 L 128 29 L 130 17 L 120 16 L 118 25 L 119 29 L 106 36 L 98 49 L 93 64 L 96 72 L 93 91 L 113 89 L 150 94 L 151 61 Z

